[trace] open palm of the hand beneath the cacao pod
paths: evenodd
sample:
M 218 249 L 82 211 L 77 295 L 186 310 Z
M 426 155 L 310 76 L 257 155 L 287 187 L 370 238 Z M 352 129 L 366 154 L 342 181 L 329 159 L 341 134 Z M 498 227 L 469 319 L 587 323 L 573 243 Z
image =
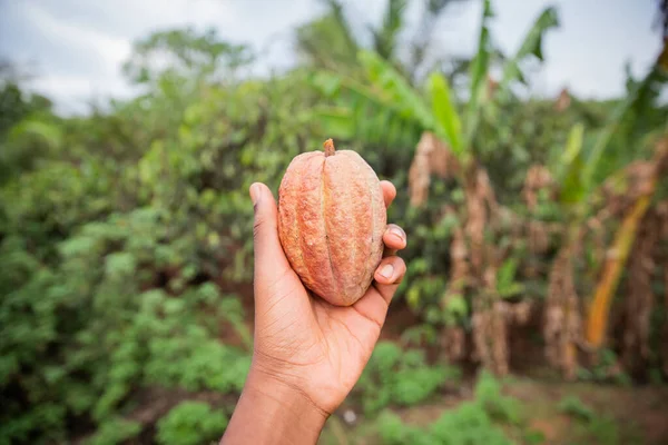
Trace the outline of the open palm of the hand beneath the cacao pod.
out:
M 312 296 L 292 269 L 275 288 L 278 298 L 266 318 L 276 323 L 264 332 L 267 344 L 261 350 L 271 350 L 265 353 L 269 358 L 297 370 L 295 377 L 307 377 L 308 396 L 330 411 L 360 378 L 387 303 L 372 286 L 353 306 L 333 306 Z

